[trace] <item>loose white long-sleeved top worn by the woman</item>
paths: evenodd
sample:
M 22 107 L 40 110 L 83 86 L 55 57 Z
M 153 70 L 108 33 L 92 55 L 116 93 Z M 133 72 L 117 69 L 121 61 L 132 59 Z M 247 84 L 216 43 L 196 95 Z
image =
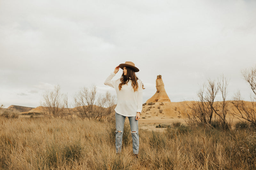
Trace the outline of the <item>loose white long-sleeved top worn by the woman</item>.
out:
M 142 82 L 141 80 L 137 80 L 138 82 L 138 91 L 134 92 L 132 88 L 132 81 L 130 80 L 128 84 L 122 85 L 121 90 L 119 90 L 118 86 L 121 83 L 120 78 L 117 80 L 112 80 L 112 78 L 116 74 L 113 72 L 111 73 L 104 85 L 108 85 L 116 89 L 117 95 L 117 105 L 115 111 L 119 115 L 132 117 L 136 116 L 137 112 L 141 113 L 142 110 Z

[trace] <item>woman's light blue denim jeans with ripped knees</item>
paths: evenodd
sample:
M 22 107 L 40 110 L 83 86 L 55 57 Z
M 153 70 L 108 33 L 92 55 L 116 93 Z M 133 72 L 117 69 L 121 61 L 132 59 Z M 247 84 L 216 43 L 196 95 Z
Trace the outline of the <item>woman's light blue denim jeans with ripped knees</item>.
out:
M 128 117 L 132 133 L 132 150 L 134 154 L 139 153 L 139 128 L 135 117 Z M 116 153 L 122 150 L 125 116 L 116 113 Z

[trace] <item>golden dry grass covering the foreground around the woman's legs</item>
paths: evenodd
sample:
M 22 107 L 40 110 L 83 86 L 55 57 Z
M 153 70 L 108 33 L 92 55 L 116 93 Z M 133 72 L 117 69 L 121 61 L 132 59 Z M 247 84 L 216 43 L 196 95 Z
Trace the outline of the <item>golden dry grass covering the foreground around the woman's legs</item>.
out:
M 184 125 L 140 129 L 139 158 L 129 125 L 115 153 L 115 124 L 80 119 L 0 117 L 0 169 L 255 169 L 254 129 Z

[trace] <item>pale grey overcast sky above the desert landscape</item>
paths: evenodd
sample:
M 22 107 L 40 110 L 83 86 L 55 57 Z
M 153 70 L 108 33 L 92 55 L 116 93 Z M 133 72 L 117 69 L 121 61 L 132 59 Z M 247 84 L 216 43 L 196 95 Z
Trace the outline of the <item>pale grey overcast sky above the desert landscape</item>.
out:
M 0 0 L 0 105 L 37 107 L 60 85 L 72 96 L 132 61 L 143 102 L 162 75 L 172 102 L 196 100 L 207 79 L 229 79 L 250 100 L 241 70 L 256 64 L 254 0 Z M 113 79 L 121 77 L 121 69 Z M 220 100 L 220 96 L 218 99 Z

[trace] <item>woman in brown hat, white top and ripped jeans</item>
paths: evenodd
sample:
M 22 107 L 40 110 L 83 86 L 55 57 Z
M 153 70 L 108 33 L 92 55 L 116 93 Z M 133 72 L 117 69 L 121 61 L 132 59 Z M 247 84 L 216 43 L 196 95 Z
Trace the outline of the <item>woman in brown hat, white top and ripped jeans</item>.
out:
M 121 78 L 112 80 L 119 68 L 123 69 Z M 138 120 L 142 110 L 142 90 L 145 89 L 141 80 L 135 74 L 139 69 L 132 62 L 125 62 L 117 66 L 111 73 L 105 85 L 116 89 L 117 105 L 116 111 L 116 153 L 120 153 L 122 149 L 122 139 L 124 131 L 125 118 L 129 118 L 132 133 L 132 150 L 136 157 L 139 152 L 139 128 Z

